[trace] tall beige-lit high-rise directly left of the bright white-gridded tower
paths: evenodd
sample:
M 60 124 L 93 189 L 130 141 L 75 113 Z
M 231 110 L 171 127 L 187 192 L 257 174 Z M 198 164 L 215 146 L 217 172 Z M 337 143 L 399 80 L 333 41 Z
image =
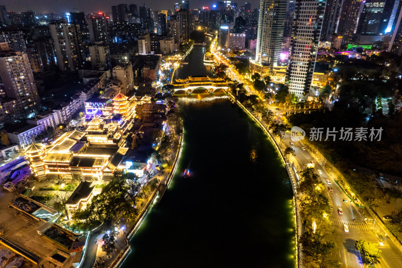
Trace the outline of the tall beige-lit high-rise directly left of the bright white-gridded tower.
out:
M 277 66 L 283 40 L 286 0 L 261 0 L 255 60 Z

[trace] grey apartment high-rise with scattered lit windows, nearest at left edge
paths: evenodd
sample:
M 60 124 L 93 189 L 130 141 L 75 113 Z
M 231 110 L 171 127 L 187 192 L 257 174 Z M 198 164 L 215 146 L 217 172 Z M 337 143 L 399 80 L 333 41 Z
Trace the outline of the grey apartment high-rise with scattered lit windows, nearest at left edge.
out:
M 7 97 L 16 100 L 22 117 L 31 117 L 39 110 L 39 95 L 26 53 L 0 52 L 0 76 Z

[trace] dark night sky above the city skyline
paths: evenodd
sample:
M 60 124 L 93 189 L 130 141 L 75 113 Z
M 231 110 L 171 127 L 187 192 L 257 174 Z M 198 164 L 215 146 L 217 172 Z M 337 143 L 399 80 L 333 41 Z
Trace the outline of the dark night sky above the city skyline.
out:
M 181 1 L 181 0 L 180 0 Z M 208 5 L 210 8 L 216 0 L 189 0 L 190 9 L 202 8 Z M 224 0 L 221 0 L 224 1 Z M 7 11 L 22 12 L 27 10 L 32 10 L 37 13 L 50 13 L 50 12 L 71 12 L 72 9 L 76 8 L 78 11 L 83 11 L 85 13 L 91 12 L 111 12 L 112 6 L 119 4 L 136 4 L 141 6 L 146 3 L 148 8 L 153 11 L 157 10 L 173 10 L 175 0 L 147 0 L 147 1 L 133 1 L 133 0 L 1 0 L 1 5 L 5 5 Z M 237 1 L 232 0 L 232 2 L 237 3 L 237 6 L 244 6 L 244 0 Z M 251 8 L 257 9 L 259 1 L 251 0 Z

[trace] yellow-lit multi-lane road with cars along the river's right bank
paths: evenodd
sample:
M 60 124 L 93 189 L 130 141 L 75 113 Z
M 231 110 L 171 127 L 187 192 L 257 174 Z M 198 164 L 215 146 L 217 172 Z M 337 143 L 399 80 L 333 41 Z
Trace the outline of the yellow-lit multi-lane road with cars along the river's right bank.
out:
M 212 46 L 211 51 L 214 52 L 214 50 L 215 49 Z M 247 92 L 249 92 L 250 94 L 258 95 L 258 93 L 256 93 L 254 89 L 251 88 L 250 82 L 244 79 L 239 73 L 237 73 L 236 69 L 231 66 L 227 58 L 218 53 L 214 53 L 214 55 L 218 62 L 225 63 L 229 66 L 227 74 L 231 79 L 243 83 Z M 272 112 L 274 112 L 274 114 L 278 113 L 278 110 L 276 110 L 275 108 L 268 105 L 267 107 Z M 283 140 L 282 149 L 287 146 L 291 146 L 290 142 L 290 135 L 286 134 Z M 332 192 L 328 191 L 328 196 L 331 200 L 330 203 L 332 205 L 330 220 L 332 223 L 332 229 L 334 231 L 334 234 L 332 234 L 332 232 L 329 232 L 329 235 L 333 236 L 333 241 L 335 243 L 335 248 L 332 251 L 332 258 L 337 259 L 339 262 L 341 262 L 342 267 L 345 268 L 363 267 L 360 252 L 356 250 L 354 244 L 355 241 L 359 239 L 364 239 L 366 241 L 379 244 L 380 239 L 372 230 L 372 223 L 366 224 L 364 222 L 364 218 L 360 215 L 358 207 L 354 203 L 350 203 L 349 198 L 335 183 L 334 178 L 325 170 L 325 163 L 323 163 L 323 165 L 319 163 L 319 159 L 315 158 L 315 155 L 307 149 L 307 146 L 305 146 L 303 141 L 293 142 L 292 147 L 295 150 L 295 156 L 292 156 L 290 160 L 293 160 L 296 169 L 300 171 L 303 169 L 304 165 L 311 163 L 311 161 L 314 161 L 314 168 L 317 173 L 319 173 L 318 170 L 321 170 L 322 172 L 320 174 L 320 181 L 326 187 L 331 186 L 333 189 Z M 303 147 L 305 147 L 306 149 L 303 149 Z M 330 184 L 328 184 L 326 180 L 328 180 Z M 346 202 L 343 202 L 343 200 L 345 200 Z M 338 213 L 338 208 L 342 209 L 342 215 Z M 355 219 L 355 221 L 353 219 Z M 348 226 L 349 232 L 345 232 L 344 224 Z M 386 231 L 382 230 L 379 225 L 377 225 L 376 228 L 379 228 L 379 231 L 382 235 L 386 233 Z M 379 244 L 379 248 L 382 251 L 382 258 L 380 259 L 380 262 L 376 264 L 376 266 L 380 268 L 402 267 L 402 253 L 392 241 L 388 241 L 383 245 Z

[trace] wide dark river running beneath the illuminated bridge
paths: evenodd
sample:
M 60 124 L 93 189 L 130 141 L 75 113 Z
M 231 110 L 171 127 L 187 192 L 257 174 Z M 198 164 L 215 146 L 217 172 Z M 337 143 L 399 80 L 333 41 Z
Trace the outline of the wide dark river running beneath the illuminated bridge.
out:
M 194 47 L 175 77 L 210 74 L 203 52 Z M 227 97 L 184 97 L 179 107 L 176 174 L 122 267 L 294 267 L 291 185 L 262 130 Z

